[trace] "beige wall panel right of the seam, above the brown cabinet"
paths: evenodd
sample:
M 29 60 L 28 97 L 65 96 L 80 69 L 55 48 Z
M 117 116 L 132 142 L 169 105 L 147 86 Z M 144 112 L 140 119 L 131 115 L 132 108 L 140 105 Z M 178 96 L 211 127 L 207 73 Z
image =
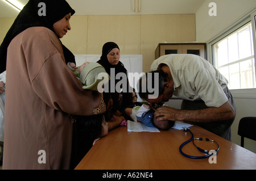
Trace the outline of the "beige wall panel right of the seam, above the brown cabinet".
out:
M 142 15 L 143 71 L 150 70 L 158 43 L 196 41 L 195 15 Z

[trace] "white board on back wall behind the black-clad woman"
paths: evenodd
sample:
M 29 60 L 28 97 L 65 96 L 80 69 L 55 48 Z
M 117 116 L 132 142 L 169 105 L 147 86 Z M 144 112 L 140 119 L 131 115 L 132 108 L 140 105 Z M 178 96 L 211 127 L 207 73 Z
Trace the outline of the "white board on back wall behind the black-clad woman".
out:
M 85 61 L 88 62 L 97 62 L 100 60 L 101 55 L 100 54 L 75 54 L 76 58 L 76 65 L 80 66 L 82 65 Z M 142 75 L 142 54 L 121 54 L 120 55 L 120 61 L 122 64 L 125 66 L 127 73 L 130 75 Z M 133 73 L 133 74 L 131 74 Z M 134 74 L 138 73 L 138 74 Z M 129 76 L 129 83 L 130 86 L 135 88 L 135 85 L 137 85 L 137 81 L 139 79 L 138 76 L 133 77 Z M 142 101 L 141 98 L 138 96 L 138 101 Z

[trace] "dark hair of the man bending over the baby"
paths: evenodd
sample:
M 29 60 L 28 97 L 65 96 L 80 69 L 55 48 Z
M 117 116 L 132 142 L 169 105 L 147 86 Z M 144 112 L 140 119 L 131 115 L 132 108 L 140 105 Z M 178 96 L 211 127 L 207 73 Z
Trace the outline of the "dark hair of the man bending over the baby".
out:
M 148 74 L 151 73 L 151 79 L 148 78 Z M 155 79 L 156 74 L 158 74 L 159 79 Z M 145 78 L 146 77 L 146 78 Z M 157 89 L 158 90 L 158 95 L 163 94 L 164 91 L 164 82 L 167 82 L 167 77 L 168 74 L 165 73 L 163 70 L 154 70 L 154 71 L 150 71 L 148 73 L 146 73 L 145 75 L 143 75 L 139 81 L 138 81 L 138 91 L 139 91 L 139 96 L 142 99 L 148 99 L 148 95 L 153 95 L 154 91 Z M 144 82 L 143 82 L 144 81 Z M 152 85 L 152 89 L 154 89 L 153 92 L 148 92 L 148 82 L 151 81 L 151 85 Z M 154 87 L 155 85 L 155 81 L 158 81 L 158 83 L 156 83 L 156 85 L 158 87 Z M 146 89 L 142 89 L 142 87 L 146 88 Z M 146 91 L 144 91 L 146 90 Z

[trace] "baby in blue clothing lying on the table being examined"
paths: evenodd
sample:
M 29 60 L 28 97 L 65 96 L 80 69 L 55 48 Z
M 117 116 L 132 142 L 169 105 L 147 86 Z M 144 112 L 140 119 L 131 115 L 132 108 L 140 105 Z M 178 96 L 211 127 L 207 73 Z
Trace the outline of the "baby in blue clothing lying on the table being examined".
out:
M 125 109 L 125 113 L 130 116 L 133 121 L 142 122 L 147 127 L 156 127 L 166 131 L 174 126 L 174 121 L 157 121 L 156 117 L 154 117 L 154 112 L 155 111 L 151 110 L 150 106 L 147 104 Z

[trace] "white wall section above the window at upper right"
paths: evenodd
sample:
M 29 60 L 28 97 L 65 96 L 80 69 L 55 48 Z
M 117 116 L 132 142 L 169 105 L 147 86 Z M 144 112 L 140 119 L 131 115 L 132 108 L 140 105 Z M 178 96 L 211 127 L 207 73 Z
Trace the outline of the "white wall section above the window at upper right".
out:
M 217 16 L 209 16 L 210 2 L 216 3 Z M 196 41 L 208 43 L 255 6 L 255 0 L 205 0 L 196 12 Z

